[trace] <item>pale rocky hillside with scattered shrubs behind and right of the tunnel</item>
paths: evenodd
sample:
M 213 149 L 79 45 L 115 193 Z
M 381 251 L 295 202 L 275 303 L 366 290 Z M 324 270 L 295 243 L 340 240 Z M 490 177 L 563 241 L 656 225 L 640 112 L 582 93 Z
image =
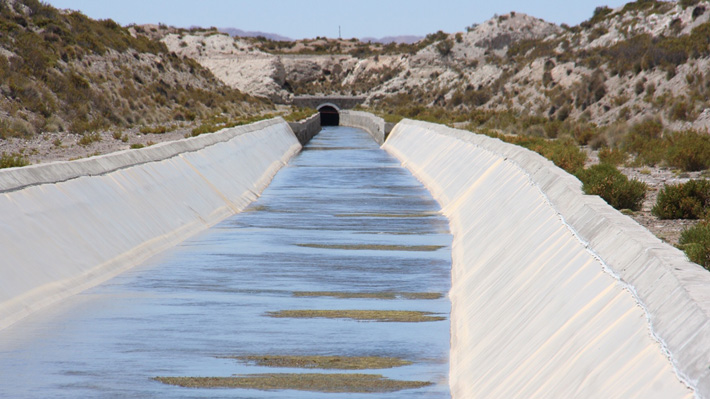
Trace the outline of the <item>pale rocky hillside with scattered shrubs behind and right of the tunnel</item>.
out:
M 288 102 L 364 94 L 370 106 L 441 105 L 596 125 L 660 117 L 710 126 L 710 2 L 639 0 L 558 26 L 521 13 L 412 44 L 275 42 L 217 32 L 166 35 L 225 83 Z

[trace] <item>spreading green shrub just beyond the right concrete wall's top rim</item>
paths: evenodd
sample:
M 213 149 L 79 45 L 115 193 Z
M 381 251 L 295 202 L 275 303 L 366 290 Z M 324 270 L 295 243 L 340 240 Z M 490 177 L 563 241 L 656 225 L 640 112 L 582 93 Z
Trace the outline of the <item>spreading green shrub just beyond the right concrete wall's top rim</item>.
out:
M 598 164 L 581 170 L 577 177 L 582 181 L 586 194 L 598 195 L 616 209 L 641 209 L 646 197 L 646 183 L 629 180 L 614 166 Z

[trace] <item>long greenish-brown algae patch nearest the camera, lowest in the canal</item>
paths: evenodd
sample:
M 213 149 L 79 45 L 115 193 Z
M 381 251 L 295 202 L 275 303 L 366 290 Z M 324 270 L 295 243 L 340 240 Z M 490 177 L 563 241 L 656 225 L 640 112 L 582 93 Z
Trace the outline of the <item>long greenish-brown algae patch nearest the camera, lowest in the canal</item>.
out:
M 378 374 L 252 374 L 235 377 L 155 377 L 186 388 L 241 388 L 262 391 L 293 389 L 311 392 L 379 393 L 432 385 L 426 381 L 390 380 Z

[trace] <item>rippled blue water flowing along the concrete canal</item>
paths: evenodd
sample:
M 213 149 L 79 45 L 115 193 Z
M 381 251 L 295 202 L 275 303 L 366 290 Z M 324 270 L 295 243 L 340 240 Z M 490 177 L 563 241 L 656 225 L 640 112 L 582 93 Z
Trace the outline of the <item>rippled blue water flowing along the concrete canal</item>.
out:
M 451 237 L 437 212 L 429 193 L 367 133 L 324 128 L 245 212 L 0 331 L 0 397 L 450 397 Z M 383 292 L 398 294 L 347 295 Z M 444 320 L 269 313 L 284 310 L 423 311 Z M 304 370 L 228 358 L 245 355 L 388 356 L 412 364 Z M 433 384 L 334 394 L 182 388 L 153 379 L 260 373 L 367 373 Z

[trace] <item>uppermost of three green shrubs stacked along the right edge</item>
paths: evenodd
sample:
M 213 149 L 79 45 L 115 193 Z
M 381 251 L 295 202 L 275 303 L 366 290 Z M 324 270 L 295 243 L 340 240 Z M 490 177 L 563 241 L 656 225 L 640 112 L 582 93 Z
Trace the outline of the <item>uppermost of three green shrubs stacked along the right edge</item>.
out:
M 674 132 L 666 136 L 668 165 L 684 171 L 710 167 L 710 136 L 693 130 Z

